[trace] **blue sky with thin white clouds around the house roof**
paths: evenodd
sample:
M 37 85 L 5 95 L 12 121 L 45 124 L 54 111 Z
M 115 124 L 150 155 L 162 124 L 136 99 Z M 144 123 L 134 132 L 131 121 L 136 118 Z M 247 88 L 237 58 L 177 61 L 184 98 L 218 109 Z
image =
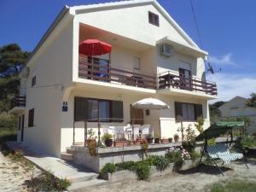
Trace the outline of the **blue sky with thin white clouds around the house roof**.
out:
M 61 8 L 110 0 L 1 0 L 0 46 L 18 43 L 32 50 Z M 113 0 L 111 0 L 113 1 Z M 202 49 L 218 71 L 208 74 L 217 82 L 219 100 L 256 92 L 256 1 L 192 0 L 201 33 Z M 189 0 L 159 0 L 194 41 L 199 44 Z M 200 45 L 200 44 L 199 44 Z

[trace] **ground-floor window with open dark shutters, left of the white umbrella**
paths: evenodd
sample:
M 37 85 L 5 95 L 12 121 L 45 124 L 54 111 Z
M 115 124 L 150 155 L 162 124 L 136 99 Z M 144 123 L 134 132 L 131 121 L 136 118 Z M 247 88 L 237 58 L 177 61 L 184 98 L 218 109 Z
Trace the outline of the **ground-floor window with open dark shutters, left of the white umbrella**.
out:
M 80 121 L 122 122 L 123 102 L 95 98 L 75 97 L 74 119 Z

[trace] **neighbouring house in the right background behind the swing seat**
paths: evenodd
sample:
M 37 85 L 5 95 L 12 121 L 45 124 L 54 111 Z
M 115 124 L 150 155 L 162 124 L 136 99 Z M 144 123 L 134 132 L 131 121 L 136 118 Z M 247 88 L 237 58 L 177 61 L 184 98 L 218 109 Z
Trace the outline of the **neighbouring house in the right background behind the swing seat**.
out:
M 250 108 L 246 105 L 247 98 L 236 96 L 229 102 L 225 102 L 218 109 L 221 117 L 248 117 L 252 120 L 251 125 L 247 128 L 248 133 L 256 132 L 256 108 Z

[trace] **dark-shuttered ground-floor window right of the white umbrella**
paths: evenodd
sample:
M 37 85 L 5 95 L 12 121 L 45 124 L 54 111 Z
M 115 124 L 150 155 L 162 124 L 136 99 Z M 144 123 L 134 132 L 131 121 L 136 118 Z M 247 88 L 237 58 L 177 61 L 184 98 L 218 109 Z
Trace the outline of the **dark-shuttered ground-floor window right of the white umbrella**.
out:
M 196 121 L 200 116 L 203 116 L 202 105 L 187 103 L 187 102 L 175 102 L 175 118 L 181 116 L 183 121 Z

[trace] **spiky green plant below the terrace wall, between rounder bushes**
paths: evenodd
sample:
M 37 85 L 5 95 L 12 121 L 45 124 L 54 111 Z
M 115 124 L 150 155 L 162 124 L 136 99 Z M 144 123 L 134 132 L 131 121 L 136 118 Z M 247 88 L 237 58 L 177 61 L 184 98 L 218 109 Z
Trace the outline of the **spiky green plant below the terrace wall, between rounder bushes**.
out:
M 166 170 L 166 168 L 170 165 L 170 161 L 164 156 L 151 155 L 146 160 L 149 166 L 156 166 L 156 169 L 160 172 Z

